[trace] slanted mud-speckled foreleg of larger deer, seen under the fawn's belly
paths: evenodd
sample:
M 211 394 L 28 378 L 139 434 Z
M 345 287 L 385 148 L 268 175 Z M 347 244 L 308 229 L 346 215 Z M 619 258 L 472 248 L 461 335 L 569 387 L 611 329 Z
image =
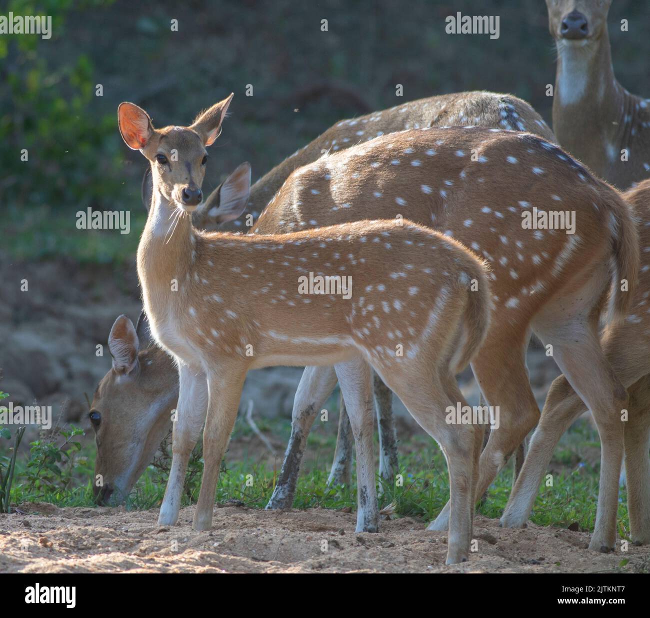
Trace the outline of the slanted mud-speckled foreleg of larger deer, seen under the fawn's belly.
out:
M 291 437 L 266 509 L 291 509 L 309 430 L 335 386 L 336 373 L 330 366 L 305 367 L 293 401 Z

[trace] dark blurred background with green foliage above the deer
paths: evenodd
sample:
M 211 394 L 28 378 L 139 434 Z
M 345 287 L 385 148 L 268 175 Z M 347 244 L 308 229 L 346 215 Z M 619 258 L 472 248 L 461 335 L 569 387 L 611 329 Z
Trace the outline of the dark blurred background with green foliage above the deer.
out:
M 0 193 L 5 250 L 14 258 L 112 262 L 133 254 L 137 233 L 70 234 L 74 213 L 88 206 L 131 209 L 135 232 L 144 224 L 145 163 L 118 134 L 123 100 L 164 126 L 188 124 L 235 92 L 205 189 L 246 160 L 258 178 L 341 118 L 433 94 L 511 92 L 551 121 L 545 88 L 554 83 L 555 51 L 543 0 L 2 5 L 0 14 L 53 18 L 49 40 L 0 36 Z M 457 11 L 499 15 L 500 38 L 445 34 L 445 17 Z M 629 20 L 627 33 L 621 18 Z M 619 81 L 650 96 L 650 3 L 614 0 L 608 23 Z M 248 84 L 253 96 L 245 94 Z

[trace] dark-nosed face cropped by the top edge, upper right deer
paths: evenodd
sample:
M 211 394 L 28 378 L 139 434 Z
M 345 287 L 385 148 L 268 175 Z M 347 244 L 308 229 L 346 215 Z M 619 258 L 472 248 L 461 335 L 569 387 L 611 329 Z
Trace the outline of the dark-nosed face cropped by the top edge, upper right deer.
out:
M 607 29 L 612 0 L 546 0 L 549 30 L 558 42 L 584 46 Z

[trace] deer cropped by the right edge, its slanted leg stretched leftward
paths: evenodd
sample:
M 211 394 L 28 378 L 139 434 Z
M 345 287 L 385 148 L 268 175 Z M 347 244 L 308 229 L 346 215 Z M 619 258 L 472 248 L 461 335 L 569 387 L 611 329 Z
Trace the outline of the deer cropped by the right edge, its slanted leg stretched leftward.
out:
M 641 264 L 639 283 L 624 321 L 608 325 L 601 345 L 623 386 L 629 388 L 629 416 L 612 415 L 612 425 L 623 426 L 630 534 L 634 543 L 650 543 L 650 180 L 623 196 L 638 217 Z M 556 378 L 544 405 L 541 421 L 530 442 L 501 522 L 507 528 L 525 526 L 552 453 L 560 437 L 584 412 L 585 405 L 564 375 Z M 616 513 L 616 511 L 614 511 Z M 596 522 L 599 526 L 599 522 Z

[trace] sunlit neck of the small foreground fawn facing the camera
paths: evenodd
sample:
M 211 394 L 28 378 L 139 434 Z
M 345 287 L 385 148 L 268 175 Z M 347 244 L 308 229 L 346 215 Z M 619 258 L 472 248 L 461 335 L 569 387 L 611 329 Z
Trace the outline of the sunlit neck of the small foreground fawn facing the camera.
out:
M 179 214 L 156 188 L 149 216 L 138 245 L 138 276 L 146 311 L 165 307 L 175 297 L 170 290 L 181 289 L 196 260 L 196 237 L 191 218 Z

